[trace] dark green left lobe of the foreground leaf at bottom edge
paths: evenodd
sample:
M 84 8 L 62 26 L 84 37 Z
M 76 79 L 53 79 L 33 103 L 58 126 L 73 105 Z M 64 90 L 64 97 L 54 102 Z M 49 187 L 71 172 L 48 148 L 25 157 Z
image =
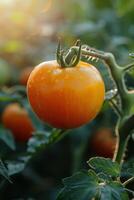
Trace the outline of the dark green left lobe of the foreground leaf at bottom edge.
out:
M 93 171 L 89 173 L 77 172 L 63 180 L 64 188 L 57 196 L 57 200 L 87 200 L 96 196 L 98 179 Z

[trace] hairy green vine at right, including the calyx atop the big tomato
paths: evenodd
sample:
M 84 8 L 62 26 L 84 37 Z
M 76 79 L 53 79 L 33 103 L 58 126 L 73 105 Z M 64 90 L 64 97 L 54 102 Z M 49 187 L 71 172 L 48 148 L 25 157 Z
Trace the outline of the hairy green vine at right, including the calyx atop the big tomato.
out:
M 58 48 L 57 55 L 60 55 L 60 58 L 62 57 L 62 61 L 64 60 L 64 63 L 66 60 L 71 60 L 70 58 L 73 58 L 72 60 L 76 64 L 79 59 L 84 56 L 87 58 L 87 60 L 98 61 L 98 59 L 101 59 L 108 67 L 108 70 L 112 75 L 117 87 L 117 95 L 121 101 L 121 109 L 119 109 L 118 105 L 112 101 L 113 98 L 110 99 L 112 107 L 117 111 L 116 113 L 118 114 L 118 122 L 116 125 L 117 145 L 113 160 L 117 161 L 118 163 L 122 163 L 127 142 L 130 138 L 131 131 L 134 129 L 134 114 L 132 109 L 134 91 L 127 90 L 124 74 L 127 70 L 130 70 L 132 67 L 134 67 L 134 63 L 130 63 L 126 66 L 120 66 L 117 64 L 112 53 L 99 51 L 87 45 L 81 46 L 79 40 L 67 52 L 61 50 L 61 47 Z

